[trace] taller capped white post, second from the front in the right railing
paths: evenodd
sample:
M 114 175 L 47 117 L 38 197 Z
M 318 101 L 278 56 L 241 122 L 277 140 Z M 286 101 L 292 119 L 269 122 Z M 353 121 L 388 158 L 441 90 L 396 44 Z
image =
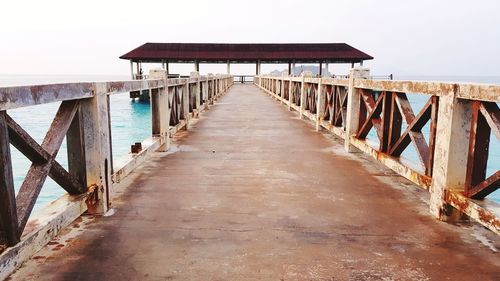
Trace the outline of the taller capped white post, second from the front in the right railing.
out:
M 351 146 L 351 137 L 356 135 L 359 126 L 359 107 L 360 94 L 358 89 L 354 87 L 355 79 L 366 79 L 370 75 L 370 70 L 367 68 L 352 68 L 349 72 L 349 88 L 347 90 L 347 118 L 346 118 L 346 135 L 344 140 L 344 148 L 347 152 L 353 152 Z

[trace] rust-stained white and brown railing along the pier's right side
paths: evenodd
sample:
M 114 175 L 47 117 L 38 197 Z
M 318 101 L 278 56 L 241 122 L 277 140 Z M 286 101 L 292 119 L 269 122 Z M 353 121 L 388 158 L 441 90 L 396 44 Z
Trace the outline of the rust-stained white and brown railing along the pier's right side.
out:
M 486 176 L 490 135 L 500 140 L 500 86 L 373 80 L 367 69 L 353 69 L 347 79 L 254 80 L 317 130 L 342 138 L 347 151 L 359 149 L 429 190 L 436 217 L 465 213 L 500 234 L 498 204 L 485 199 L 500 187 L 500 171 Z M 426 99 L 418 111 L 409 101 L 414 95 Z M 417 163 L 402 157 L 410 144 Z

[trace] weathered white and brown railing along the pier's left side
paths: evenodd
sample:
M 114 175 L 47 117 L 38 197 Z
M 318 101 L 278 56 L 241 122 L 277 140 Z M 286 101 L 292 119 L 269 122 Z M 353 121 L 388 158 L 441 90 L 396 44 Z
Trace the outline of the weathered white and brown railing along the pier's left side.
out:
M 228 75 L 167 79 L 164 71 L 157 70 L 150 72 L 149 77 L 0 88 L 0 253 L 19 243 L 23 232 L 27 235 L 26 225 L 47 177 L 69 194 L 67 206 L 77 204 L 71 216 L 59 216 L 60 221 L 69 222 L 84 211 L 103 214 L 111 206 L 113 184 L 139 165 L 144 155 L 167 150 L 170 135 L 187 129 L 191 118 L 233 84 Z M 111 152 L 109 96 L 143 90 L 149 90 L 151 95 L 152 137 L 140 151 L 116 165 Z M 8 114 L 11 109 L 27 106 L 35 108 L 33 114 L 43 114 L 36 112 L 36 105 L 52 102 L 60 102 L 60 106 L 41 144 Z M 55 160 L 65 137 L 68 170 Z M 10 144 L 32 163 L 17 196 Z M 63 227 L 61 222 L 56 224 L 49 229 L 50 235 L 46 233 L 39 239 L 49 241 Z M 41 226 L 33 229 L 37 227 Z

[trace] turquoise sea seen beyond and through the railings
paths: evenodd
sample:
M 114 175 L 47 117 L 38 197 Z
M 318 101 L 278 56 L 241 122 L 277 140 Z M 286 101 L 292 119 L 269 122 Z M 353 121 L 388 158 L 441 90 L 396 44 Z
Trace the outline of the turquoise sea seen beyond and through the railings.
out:
M 103 82 L 129 80 L 126 75 L 2 75 L 0 74 L 0 87 L 69 83 L 69 82 Z M 397 76 L 397 80 L 421 80 L 421 81 L 443 81 L 443 82 L 471 82 L 500 85 L 500 76 Z M 424 95 L 408 95 L 415 115 L 427 102 L 428 97 Z M 39 105 L 9 110 L 9 115 L 21 125 L 37 142 L 41 143 L 54 117 L 59 103 Z M 111 108 L 111 133 L 113 159 L 125 156 L 129 153 L 130 145 L 140 142 L 151 134 L 151 111 L 148 102 L 131 100 L 128 93 L 112 95 L 110 97 Z M 423 132 L 428 139 L 429 125 L 424 127 Z M 377 137 L 374 132 L 368 135 L 368 139 L 375 145 Z M 418 163 L 417 154 L 413 147 L 402 155 L 412 163 Z M 30 167 L 30 162 L 16 148 L 11 146 L 11 157 L 13 163 L 14 185 L 16 193 L 19 190 L 24 177 Z M 66 154 L 66 142 L 64 141 L 56 157 L 57 161 L 67 169 L 68 161 Z M 500 169 L 500 143 L 492 135 L 490 142 L 488 171 L 491 175 Z M 50 202 L 64 194 L 64 190 L 52 179 L 47 178 L 40 196 L 36 202 L 34 212 L 37 212 Z M 488 198 L 500 203 L 500 190 L 490 194 Z

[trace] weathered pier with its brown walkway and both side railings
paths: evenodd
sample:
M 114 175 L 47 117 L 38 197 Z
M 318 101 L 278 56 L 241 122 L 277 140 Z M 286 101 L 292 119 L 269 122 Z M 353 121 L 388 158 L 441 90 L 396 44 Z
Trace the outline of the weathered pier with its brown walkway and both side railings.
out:
M 252 81 L 155 69 L 0 88 L 0 280 L 499 276 L 499 206 L 485 197 L 500 186 L 486 173 L 500 86 L 362 67 Z M 115 162 L 109 97 L 141 91 L 151 137 Z M 414 109 L 410 95 L 427 101 Z M 41 144 L 8 114 L 51 102 Z M 55 160 L 65 138 L 67 168 Z M 17 196 L 10 144 L 32 162 Z M 67 194 L 32 214 L 47 177 Z

